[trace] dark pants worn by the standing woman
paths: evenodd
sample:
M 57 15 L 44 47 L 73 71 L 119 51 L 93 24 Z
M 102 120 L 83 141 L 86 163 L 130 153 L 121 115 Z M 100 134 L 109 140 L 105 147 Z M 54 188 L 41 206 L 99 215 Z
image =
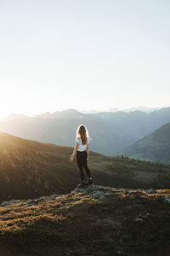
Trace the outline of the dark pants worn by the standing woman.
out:
M 80 171 L 80 176 L 82 180 L 84 179 L 84 172 L 83 172 L 82 166 L 84 167 L 88 177 L 91 177 L 90 170 L 88 169 L 87 157 L 88 157 L 88 153 L 86 152 L 86 150 L 84 151 L 77 150 L 77 166 Z

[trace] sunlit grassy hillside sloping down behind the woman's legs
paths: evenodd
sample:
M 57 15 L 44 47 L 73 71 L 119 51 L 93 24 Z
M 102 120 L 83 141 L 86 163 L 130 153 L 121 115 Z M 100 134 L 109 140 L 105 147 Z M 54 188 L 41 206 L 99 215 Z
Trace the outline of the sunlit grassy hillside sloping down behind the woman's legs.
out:
M 73 148 L 37 143 L 0 133 L 0 201 L 67 193 L 80 183 Z M 90 151 L 88 166 L 94 182 L 131 188 L 169 187 L 169 166 Z

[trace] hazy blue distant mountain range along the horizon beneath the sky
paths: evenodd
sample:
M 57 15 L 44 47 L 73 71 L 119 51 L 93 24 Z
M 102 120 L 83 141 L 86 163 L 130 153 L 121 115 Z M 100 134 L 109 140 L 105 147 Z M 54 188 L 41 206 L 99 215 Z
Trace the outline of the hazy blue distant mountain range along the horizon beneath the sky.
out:
M 150 113 L 81 113 L 75 109 L 42 113 L 34 117 L 13 114 L 0 121 L 0 131 L 42 143 L 74 146 L 77 126 L 87 125 L 92 140 L 90 149 L 100 154 L 116 155 L 141 138 L 170 122 L 170 108 Z

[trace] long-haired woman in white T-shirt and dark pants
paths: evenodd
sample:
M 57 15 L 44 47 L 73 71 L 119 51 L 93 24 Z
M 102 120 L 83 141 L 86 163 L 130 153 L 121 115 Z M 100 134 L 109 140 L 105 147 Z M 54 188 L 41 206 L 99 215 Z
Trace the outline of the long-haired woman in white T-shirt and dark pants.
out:
M 77 128 L 75 148 L 71 155 L 70 161 L 72 162 L 74 160 L 74 156 L 75 155 L 77 156 L 77 166 L 80 171 L 80 176 L 82 179 L 82 183 L 81 183 L 82 187 L 85 185 L 94 183 L 91 177 L 91 172 L 88 169 L 88 155 L 89 155 L 88 143 L 89 143 L 88 129 L 86 128 L 85 125 L 79 125 Z M 85 181 L 82 166 L 84 167 L 88 175 L 87 181 Z

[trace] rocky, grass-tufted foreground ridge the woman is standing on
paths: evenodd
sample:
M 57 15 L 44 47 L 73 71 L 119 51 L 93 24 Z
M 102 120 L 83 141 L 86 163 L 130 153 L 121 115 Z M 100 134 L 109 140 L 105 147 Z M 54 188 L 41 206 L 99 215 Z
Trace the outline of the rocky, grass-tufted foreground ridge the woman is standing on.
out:
M 0 205 L 0 255 L 168 256 L 170 189 L 90 185 Z

